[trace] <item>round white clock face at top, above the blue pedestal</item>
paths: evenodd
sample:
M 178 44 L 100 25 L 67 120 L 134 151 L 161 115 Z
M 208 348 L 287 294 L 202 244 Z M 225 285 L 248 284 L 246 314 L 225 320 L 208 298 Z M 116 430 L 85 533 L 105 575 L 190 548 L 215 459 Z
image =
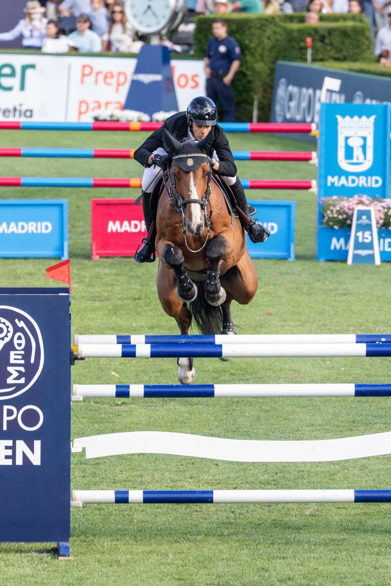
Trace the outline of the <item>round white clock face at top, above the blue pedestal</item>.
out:
M 126 0 L 125 12 L 132 29 L 142 35 L 168 33 L 181 23 L 186 0 Z

